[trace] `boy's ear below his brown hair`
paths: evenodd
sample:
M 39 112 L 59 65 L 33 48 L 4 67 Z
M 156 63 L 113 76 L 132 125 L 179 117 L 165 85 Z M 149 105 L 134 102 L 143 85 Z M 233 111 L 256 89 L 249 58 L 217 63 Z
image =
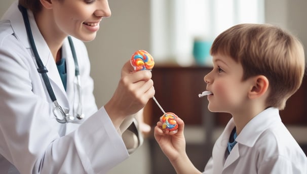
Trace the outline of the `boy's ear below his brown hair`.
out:
M 258 98 L 268 90 L 268 79 L 264 75 L 253 77 L 253 86 L 248 93 L 250 99 Z

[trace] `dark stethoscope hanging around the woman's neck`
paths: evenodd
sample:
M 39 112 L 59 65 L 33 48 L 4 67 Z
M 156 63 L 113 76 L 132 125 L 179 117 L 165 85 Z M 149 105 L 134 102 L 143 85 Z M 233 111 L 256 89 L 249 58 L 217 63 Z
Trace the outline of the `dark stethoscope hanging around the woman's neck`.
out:
M 72 123 L 80 123 L 81 119 L 84 118 L 84 114 L 82 112 L 82 100 L 81 100 L 81 79 L 80 79 L 80 73 L 79 73 L 79 65 L 78 65 L 78 61 L 76 59 L 76 54 L 75 54 L 75 49 L 71 40 L 71 37 L 68 36 L 68 42 L 69 42 L 69 46 L 71 49 L 71 53 L 72 53 L 72 57 L 73 57 L 73 61 L 74 61 L 74 66 L 75 66 L 75 70 L 74 70 L 74 76 L 75 76 L 75 80 L 74 80 L 74 92 L 77 91 L 77 94 L 74 95 L 74 97 L 78 97 L 78 104 L 77 106 L 73 106 L 73 115 L 76 116 L 72 116 L 70 115 L 67 111 L 65 111 L 59 104 L 58 101 L 55 97 L 55 94 L 53 92 L 52 86 L 50 84 L 48 75 L 47 75 L 47 67 L 44 66 L 39 53 L 37 52 L 35 43 L 34 43 L 34 38 L 32 35 L 32 31 L 31 31 L 31 27 L 30 27 L 30 22 L 29 22 L 29 18 L 28 18 L 28 14 L 27 14 L 27 10 L 22 7 L 22 6 L 18 6 L 22 17 L 23 17 L 23 21 L 24 21 L 24 25 L 27 31 L 27 35 L 30 41 L 30 45 L 35 57 L 35 61 L 36 64 L 38 66 L 37 71 L 42 74 L 46 89 L 48 91 L 48 94 L 52 100 L 52 102 L 54 103 L 54 108 L 53 108 L 53 114 L 56 118 L 56 120 L 59 123 L 67 123 L 67 122 L 72 122 Z M 76 112 L 76 113 L 74 113 Z

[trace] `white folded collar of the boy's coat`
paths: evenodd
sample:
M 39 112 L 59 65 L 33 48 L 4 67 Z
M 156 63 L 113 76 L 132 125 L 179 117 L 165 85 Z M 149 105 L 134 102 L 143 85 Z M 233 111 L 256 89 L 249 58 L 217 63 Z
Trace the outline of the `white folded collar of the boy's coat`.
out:
M 239 144 L 253 147 L 264 132 L 264 130 L 274 122 L 281 121 L 279 110 L 277 108 L 267 108 L 251 119 L 242 129 L 236 138 Z

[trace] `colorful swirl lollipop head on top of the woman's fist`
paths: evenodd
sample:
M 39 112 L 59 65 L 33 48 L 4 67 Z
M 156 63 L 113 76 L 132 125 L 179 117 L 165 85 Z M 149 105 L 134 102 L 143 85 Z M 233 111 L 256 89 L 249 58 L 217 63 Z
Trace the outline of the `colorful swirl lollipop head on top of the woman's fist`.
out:
M 145 50 L 136 51 L 130 59 L 130 63 L 134 68 L 134 71 L 149 70 L 155 65 L 152 56 Z

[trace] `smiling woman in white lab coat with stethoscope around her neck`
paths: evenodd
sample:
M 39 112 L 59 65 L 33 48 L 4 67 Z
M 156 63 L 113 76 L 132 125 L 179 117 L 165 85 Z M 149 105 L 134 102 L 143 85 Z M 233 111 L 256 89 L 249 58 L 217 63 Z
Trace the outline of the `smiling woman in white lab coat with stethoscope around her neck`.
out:
M 134 134 L 122 138 L 122 133 L 155 94 L 150 71 L 131 73 L 127 61 L 110 101 L 97 109 L 93 96 L 82 41 L 93 40 L 110 15 L 107 0 L 20 0 L 5 13 L 0 22 L 2 172 L 105 173 L 133 151 L 123 139 L 133 148 L 140 144 Z

